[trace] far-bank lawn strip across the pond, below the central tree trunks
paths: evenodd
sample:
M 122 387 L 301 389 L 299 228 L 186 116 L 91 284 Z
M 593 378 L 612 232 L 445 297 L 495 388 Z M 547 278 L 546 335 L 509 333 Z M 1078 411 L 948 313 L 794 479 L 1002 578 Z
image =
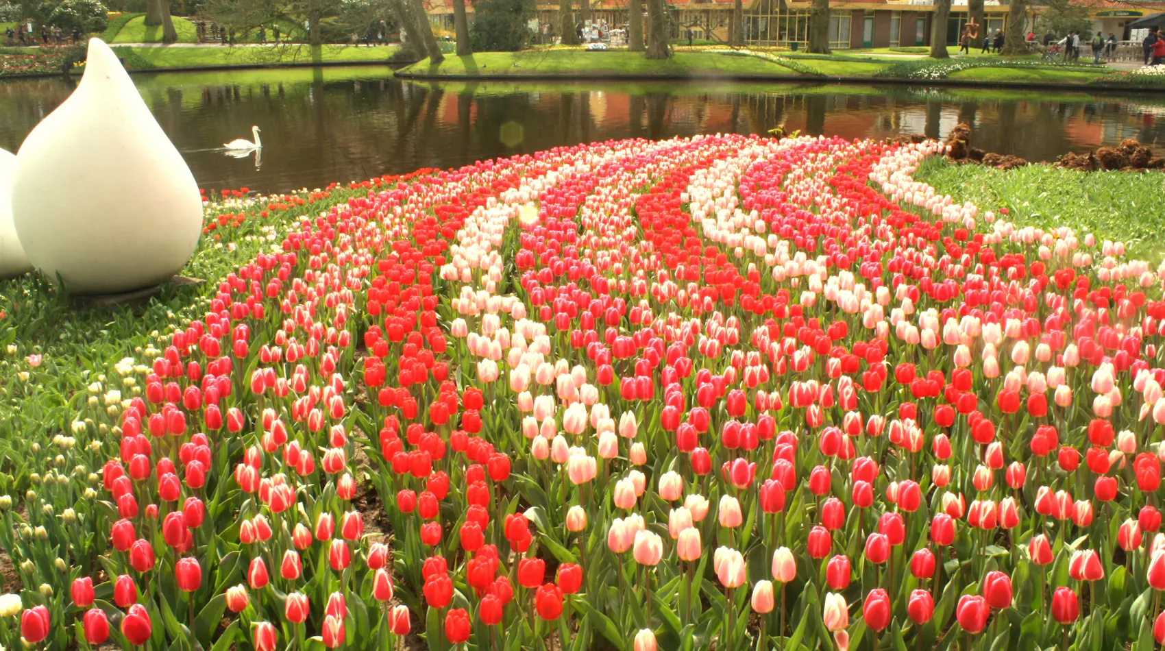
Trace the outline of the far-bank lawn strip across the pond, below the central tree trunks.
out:
M 480 52 L 467 57 L 446 57 L 439 66 L 429 61 L 415 63 L 403 72 L 473 75 L 781 75 L 795 70 L 760 57 L 711 52 L 676 52 L 670 59 L 650 61 L 627 51 L 588 52 L 584 50 L 532 50 L 524 52 Z

